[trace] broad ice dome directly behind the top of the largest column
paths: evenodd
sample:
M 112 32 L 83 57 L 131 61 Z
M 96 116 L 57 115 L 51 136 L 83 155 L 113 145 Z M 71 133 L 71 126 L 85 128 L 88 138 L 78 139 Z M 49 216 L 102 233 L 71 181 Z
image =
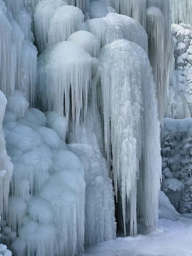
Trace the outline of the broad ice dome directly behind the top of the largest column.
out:
M 109 13 L 106 17 L 87 20 L 86 23 L 88 30 L 97 36 L 102 47 L 116 39 L 127 39 L 148 52 L 148 37 L 145 29 L 130 17 Z

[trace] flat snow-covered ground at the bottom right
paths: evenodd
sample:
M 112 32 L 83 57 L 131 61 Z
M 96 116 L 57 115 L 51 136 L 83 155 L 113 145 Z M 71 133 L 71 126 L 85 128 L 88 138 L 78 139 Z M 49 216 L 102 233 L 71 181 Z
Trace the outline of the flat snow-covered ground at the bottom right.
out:
M 159 219 L 159 227 L 149 235 L 119 237 L 91 245 L 86 256 L 191 256 L 192 214 L 177 221 Z

